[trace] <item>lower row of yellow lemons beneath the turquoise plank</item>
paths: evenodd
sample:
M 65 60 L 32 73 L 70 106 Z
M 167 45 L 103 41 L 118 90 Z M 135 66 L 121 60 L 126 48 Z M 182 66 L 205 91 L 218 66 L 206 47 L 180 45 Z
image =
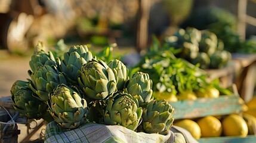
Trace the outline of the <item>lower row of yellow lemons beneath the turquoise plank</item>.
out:
M 241 114 L 225 116 L 206 116 L 199 119 L 183 119 L 174 122 L 191 133 L 195 139 L 217 136 L 256 135 L 256 97 L 247 104 L 247 110 Z

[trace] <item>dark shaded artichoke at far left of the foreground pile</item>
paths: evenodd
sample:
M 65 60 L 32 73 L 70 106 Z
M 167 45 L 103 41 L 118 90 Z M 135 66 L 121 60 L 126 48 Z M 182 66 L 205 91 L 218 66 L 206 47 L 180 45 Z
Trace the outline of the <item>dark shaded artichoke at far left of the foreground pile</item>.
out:
M 20 116 L 28 119 L 44 118 L 48 105 L 34 97 L 35 93 L 29 88 L 29 82 L 17 80 L 11 87 L 11 101 Z

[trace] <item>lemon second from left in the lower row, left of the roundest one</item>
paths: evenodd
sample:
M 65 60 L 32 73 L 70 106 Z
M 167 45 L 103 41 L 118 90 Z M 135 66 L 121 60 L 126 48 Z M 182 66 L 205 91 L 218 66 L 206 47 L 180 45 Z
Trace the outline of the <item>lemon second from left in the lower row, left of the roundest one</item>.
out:
M 214 116 L 203 117 L 199 119 L 197 123 L 201 128 L 202 137 L 215 137 L 221 135 L 221 122 Z

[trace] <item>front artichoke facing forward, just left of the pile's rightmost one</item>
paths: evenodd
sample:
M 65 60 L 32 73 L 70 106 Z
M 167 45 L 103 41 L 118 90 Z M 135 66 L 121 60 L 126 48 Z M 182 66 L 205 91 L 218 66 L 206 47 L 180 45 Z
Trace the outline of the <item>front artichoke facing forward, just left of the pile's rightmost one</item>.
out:
M 136 98 L 126 92 L 119 92 L 107 101 L 104 123 L 135 130 L 140 123 L 142 112 L 143 109 L 138 107 Z

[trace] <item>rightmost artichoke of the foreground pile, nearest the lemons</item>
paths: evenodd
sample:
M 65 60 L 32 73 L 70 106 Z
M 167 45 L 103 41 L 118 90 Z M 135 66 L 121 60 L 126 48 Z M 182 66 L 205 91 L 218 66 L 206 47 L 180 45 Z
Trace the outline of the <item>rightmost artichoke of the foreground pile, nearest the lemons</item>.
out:
M 143 108 L 141 124 L 144 132 L 166 135 L 174 122 L 173 113 L 174 108 L 166 100 L 150 101 Z

